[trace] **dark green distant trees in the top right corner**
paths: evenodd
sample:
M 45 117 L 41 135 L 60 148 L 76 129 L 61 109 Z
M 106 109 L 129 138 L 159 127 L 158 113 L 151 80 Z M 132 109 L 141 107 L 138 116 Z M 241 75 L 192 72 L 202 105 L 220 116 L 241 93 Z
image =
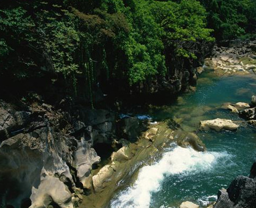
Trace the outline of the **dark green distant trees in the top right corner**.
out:
M 208 26 L 217 40 L 255 38 L 256 1 L 200 0 L 207 10 Z

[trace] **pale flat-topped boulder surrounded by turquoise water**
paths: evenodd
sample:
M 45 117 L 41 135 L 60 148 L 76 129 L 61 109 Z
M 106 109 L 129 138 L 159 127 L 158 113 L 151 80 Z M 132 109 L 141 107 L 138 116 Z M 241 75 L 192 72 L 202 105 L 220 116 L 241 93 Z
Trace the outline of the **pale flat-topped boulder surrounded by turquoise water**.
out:
M 213 129 L 215 131 L 221 131 L 221 130 L 230 130 L 230 131 L 235 131 L 239 125 L 233 123 L 229 119 L 213 119 L 213 120 L 206 120 L 206 121 L 201 121 L 201 126 L 200 128 L 202 130 L 208 131 L 210 129 Z

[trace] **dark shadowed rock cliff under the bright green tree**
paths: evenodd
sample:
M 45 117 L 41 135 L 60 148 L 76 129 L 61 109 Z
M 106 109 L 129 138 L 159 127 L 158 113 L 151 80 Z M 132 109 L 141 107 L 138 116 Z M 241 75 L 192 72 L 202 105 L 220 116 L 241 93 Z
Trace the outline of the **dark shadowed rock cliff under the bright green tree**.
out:
M 204 59 L 211 54 L 214 43 L 182 41 L 177 44 L 182 45 L 183 49 L 196 54 L 197 59 L 191 60 L 179 57 L 175 51 L 172 51 L 173 49 L 170 49 L 166 57 L 167 76 L 159 76 L 158 79 L 150 81 L 145 86 L 141 85 L 134 91 L 139 89 L 151 94 L 167 93 L 170 95 L 188 91 L 190 86 L 196 86 L 197 68 L 203 66 Z

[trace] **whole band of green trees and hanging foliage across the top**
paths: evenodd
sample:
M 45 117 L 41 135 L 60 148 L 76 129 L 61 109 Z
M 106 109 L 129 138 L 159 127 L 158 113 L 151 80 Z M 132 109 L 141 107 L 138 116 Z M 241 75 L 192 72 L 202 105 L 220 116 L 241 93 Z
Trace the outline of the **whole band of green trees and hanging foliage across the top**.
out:
M 188 43 L 212 42 L 212 32 L 218 40 L 255 34 L 255 8 L 253 0 L 2 0 L 0 73 L 51 73 L 75 93 L 84 83 L 92 99 L 98 82 L 166 76 L 170 54 L 196 59 Z

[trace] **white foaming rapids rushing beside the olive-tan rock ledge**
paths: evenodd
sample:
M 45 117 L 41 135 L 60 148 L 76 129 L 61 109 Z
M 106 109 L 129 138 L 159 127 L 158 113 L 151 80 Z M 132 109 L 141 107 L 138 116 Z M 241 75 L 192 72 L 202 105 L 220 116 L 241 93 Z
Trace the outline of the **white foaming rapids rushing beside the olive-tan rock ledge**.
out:
M 113 199 L 111 208 L 148 208 L 151 193 L 161 189 L 161 183 L 166 176 L 207 171 L 222 156 L 225 154 L 202 153 L 192 148 L 175 147 L 165 153 L 159 162 L 142 167 L 134 185 Z

